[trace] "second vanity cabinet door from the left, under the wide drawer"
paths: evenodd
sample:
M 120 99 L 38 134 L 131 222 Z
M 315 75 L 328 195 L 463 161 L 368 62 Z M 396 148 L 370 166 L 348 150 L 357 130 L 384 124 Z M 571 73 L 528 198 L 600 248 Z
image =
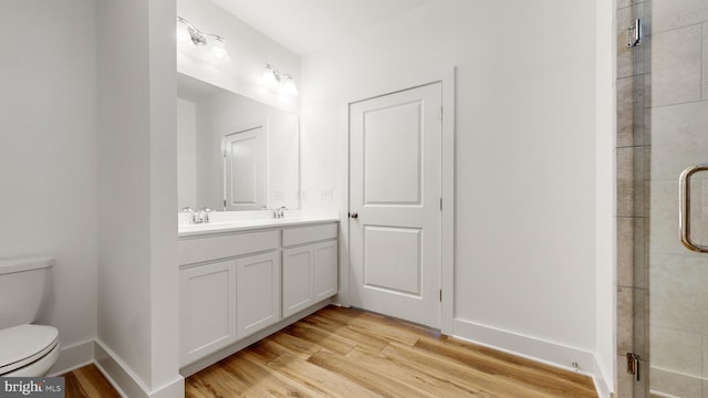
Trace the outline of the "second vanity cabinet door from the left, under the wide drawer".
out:
M 238 338 L 280 321 L 280 255 L 278 252 L 236 260 Z

